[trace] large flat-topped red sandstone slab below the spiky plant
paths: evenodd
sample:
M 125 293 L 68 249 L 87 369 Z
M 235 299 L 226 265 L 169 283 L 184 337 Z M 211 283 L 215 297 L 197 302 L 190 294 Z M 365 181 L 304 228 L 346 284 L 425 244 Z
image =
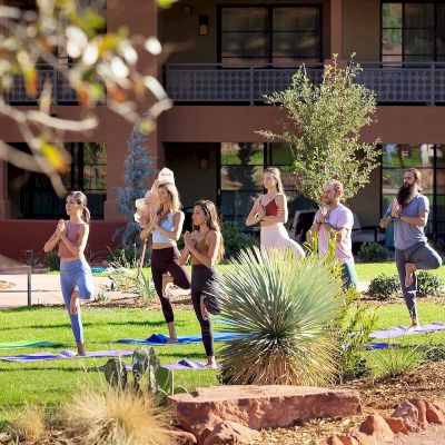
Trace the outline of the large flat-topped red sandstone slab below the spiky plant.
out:
M 169 398 L 182 428 L 194 433 L 198 441 L 209 421 L 216 425 L 218 418 L 261 429 L 362 411 L 358 392 L 305 386 L 214 386 Z

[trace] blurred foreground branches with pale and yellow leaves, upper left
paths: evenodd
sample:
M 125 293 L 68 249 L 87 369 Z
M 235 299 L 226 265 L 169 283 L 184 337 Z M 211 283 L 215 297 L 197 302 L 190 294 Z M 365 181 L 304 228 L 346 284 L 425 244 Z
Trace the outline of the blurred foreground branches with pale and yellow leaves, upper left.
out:
M 161 7 L 172 1 L 157 0 Z M 65 194 L 60 174 L 71 161 L 63 134 L 96 128 L 97 105 L 108 106 L 142 132 L 151 131 L 156 117 L 171 106 L 158 80 L 138 70 L 141 55 L 160 53 L 159 41 L 130 34 L 126 27 L 107 31 L 103 3 L 36 0 L 19 8 L 19 2 L 6 0 L 0 6 L 0 113 L 17 123 L 31 150 L 24 154 L 0 138 L 0 159 L 46 174 L 59 195 Z M 57 85 L 55 79 L 59 79 Z M 22 109 L 8 102 L 16 82 L 26 87 L 39 107 Z M 53 90 L 60 87 L 76 92 L 85 108 L 81 119 L 51 116 Z M 156 102 L 139 112 L 136 100 L 147 95 Z

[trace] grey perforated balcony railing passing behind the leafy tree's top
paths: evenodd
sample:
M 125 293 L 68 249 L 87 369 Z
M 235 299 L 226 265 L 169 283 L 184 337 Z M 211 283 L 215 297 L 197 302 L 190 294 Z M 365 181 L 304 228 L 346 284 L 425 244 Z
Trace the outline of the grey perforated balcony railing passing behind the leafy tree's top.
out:
M 374 90 L 379 103 L 445 102 L 445 63 L 360 62 L 357 81 Z M 222 67 L 169 63 L 165 82 L 169 97 L 180 102 L 264 102 L 264 96 L 287 89 L 298 67 Z M 320 82 L 323 65 L 307 66 L 309 78 Z

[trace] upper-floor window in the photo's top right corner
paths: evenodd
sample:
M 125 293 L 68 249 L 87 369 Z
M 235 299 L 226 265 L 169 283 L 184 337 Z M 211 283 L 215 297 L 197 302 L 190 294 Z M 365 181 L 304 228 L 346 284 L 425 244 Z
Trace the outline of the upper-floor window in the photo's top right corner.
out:
M 444 61 L 443 1 L 382 3 L 382 61 Z

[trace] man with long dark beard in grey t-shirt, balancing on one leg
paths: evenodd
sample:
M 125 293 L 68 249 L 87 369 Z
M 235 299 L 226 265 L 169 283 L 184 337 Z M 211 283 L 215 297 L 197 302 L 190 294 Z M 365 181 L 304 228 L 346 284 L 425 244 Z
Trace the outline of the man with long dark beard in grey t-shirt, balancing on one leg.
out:
M 383 228 L 394 221 L 395 260 L 402 291 L 409 310 L 412 328 L 418 327 L 415 271 L 437 269 L 442 266 L 442 258 L 428 246 L 425 236 L 429 201 L 426 196 L 421 194 L 421 184 L 419 170 L 416 168 L 405 170 L 404 184 L 380 219 Z

